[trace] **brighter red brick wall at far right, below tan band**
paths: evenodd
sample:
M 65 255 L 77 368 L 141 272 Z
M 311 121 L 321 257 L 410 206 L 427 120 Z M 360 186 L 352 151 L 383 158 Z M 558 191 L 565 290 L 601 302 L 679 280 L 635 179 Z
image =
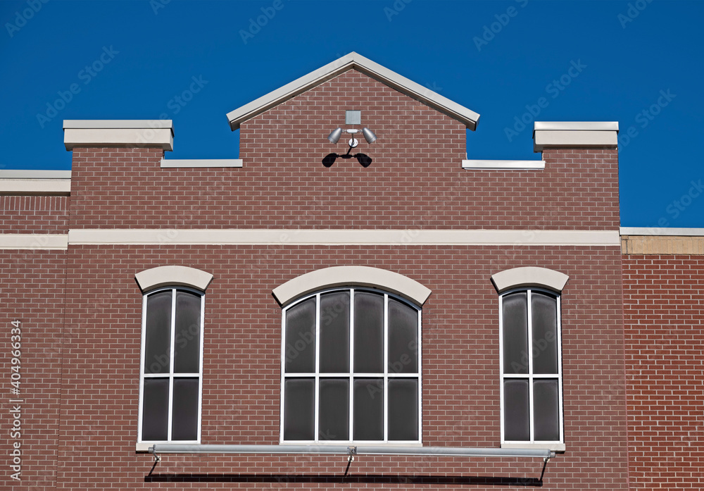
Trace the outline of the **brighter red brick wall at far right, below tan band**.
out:
M 624 256 L 631 489 L 704 488 L 704 257 Z

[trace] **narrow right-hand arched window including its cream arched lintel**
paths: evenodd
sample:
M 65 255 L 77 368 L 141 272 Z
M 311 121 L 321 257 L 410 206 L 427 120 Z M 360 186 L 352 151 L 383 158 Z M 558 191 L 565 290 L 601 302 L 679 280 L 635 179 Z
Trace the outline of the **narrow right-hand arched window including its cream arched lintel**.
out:
M 567 275 L 514 268 L 499 290 L 501 445 L 564 449 L 560 293 Z

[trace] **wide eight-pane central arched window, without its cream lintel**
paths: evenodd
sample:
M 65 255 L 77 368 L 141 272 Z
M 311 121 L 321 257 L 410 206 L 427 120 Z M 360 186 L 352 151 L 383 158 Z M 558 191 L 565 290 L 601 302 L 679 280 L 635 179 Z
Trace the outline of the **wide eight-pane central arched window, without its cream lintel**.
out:
M 283 309 L 281 441 L 420 442 L 420 307 L 369 287 Z

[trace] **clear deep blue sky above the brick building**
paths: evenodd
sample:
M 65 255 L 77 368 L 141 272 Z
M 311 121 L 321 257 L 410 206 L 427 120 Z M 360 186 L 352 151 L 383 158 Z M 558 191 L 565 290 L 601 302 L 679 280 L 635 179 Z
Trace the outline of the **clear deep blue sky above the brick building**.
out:
M 677 0 L 0 1 L 0 168 L 69 169 L 64 119 L 168 118 L 170 159 L 237 158 L 227 112 L 357 51 L 480 113 L 470 159 L 539 159 L 534 120 L 617 120 L 622 226 L 704 227 L 703 18 Z

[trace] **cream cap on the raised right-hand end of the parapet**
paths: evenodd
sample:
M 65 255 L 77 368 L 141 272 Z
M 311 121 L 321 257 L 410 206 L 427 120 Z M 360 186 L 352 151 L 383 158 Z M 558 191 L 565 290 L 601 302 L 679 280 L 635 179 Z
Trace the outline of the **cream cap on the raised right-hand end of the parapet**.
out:
M 610 148 L 618 145 L 617 121 L 536 121 L 533 151 L 546 148 Z

